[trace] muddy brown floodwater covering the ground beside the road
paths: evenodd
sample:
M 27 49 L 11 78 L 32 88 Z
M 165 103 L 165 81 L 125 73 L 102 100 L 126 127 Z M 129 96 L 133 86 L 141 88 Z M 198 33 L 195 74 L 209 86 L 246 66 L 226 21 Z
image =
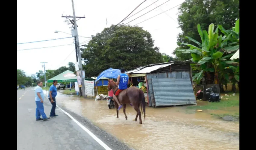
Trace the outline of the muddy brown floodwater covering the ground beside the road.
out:
M 146 107 L 142 125 L 133 121 L 136 116 L 131 106 L 116 118 L 116 109 L 109 109 L 106 101 L 80 99 L 76 96 L 57 97 L 58 105 L 88 118 L 99 128 L 114 135 L 138 150 L 163 149 L 239 149 L 239 122 L 224 121 L 209 113 L 187 110 L 186 107 Z

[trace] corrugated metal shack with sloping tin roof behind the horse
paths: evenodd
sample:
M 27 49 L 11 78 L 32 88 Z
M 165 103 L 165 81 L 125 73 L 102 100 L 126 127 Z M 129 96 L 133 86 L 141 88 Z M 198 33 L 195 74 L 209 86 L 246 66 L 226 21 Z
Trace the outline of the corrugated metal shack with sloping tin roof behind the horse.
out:
M 130 77 L 145 76 L 149 107 L 196 104 L 189 61 L 150 64 L 130 70 Z

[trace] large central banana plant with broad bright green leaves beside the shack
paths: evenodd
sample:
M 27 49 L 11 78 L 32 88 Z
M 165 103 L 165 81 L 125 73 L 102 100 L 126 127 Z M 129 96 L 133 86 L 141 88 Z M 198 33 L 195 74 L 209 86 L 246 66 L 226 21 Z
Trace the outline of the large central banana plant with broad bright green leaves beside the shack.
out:
M 186 37 L 190 41 L 193 41 L 198 46 L 194 46 L 192 44 L 182 43 L 184 45 L 189 46 L 189 49 L 180 49 L 182 53 L 191 53 L 192 61 L 196 62 L 200 65 L 201 71 L 196 73 L 193 79 L 196 79 L 197 82 L 203 77 L 204 72 L 214 72 L 214 83 L 219 83 L 219 72 L 221 71 L 220 65 L 226 65 L 231 63 L 230 61 L 225 61 L 227 58 L 231 57 L 232 54 L 223 55 L 224 52 L 234 51 L 234 49 L 238 49 L 239 45 L 233 46 L 233 44 L 228 44 L 229 38 L 232 37 L 232 33 L 229 33 L 229 30 L 224 35 L 219 35 L 219 28 L 222 30 L 222 26 L 218 26 L 214 31 L 214 24 L 211 24 L 208 28 L 208 32 L 201 29 L 200 24 L 198 24 L 197 29 L 198 33 L 201 37 L 202 42 L 198 42 L 193 38 Z M 222 31 L 221 30 L 221 31 Z M 234 33 L 233 33 L 234 34 Z M 221 63 L 224 62 L 224 63 Z M 223 66 L 222 66 L 223 68 Z

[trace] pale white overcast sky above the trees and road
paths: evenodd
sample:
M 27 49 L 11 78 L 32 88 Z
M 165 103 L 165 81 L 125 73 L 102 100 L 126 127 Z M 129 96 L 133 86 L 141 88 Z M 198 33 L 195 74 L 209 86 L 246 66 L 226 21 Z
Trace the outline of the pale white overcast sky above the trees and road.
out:
M 85 19 L 77 21 L 78 35 L 90 37 L 97 32 L 100 33 L 105 27 L 111 26 L 111 24 L 119 23 L 142 1 L 143 0 L 74 0 L 76 16 L 85 15 L 86 17 Z M 147 0 L 132 14 L 147 7 L 153 1 L 156 0 Z M 159 0 L 155 4 L 158 6 L 165 1 L 167 0 Z M 165 11 L 181 4 L 183 1 L 184 0 L 170 0 L 160 6 L 160 8 Z M 155 8 L 155 4 L 130 19 L 127 19 L 124 23 Z M 178 7 L 166 12 L 170 17 L 176 20 L 176 22 L 167 16 L 167 14 L 162 13 L 138 25 L 151 33 L 153 40 L 155 40 L 155 46 L 160 48 L 161 53 L 165 52 L 171 56 L 173 56 L 172 52 L 177 47 L 177 35 L 181 32 L 181 30 L 177 28 L 177 8 Z M 130 22 L 130 25 L 135 25 L 155 16 L 161 13 L 162 10 L 156 8 L 139 19 Z M 64 16 L 73 16 L 71 0 L 17 1 L 17 43 L 70 37 L 71 35 L 61 33 L 71 33 L 69 28 L 71 25 L 67 25 L 67 23 L 64 22 L 65 18 L 61 17 L 62 14 Z M 108 18 L 108 26 L 106 26 L 106 18 Z M 54 31 L 61 32 L 54 33 Z M 80 43 L 87 39 L 88 38 L 79 37 Z M 73 38 L 67 38 L 30 44 L 18 44 L 17 50 L 72 44 L 72 42 Z M 61 66 L 67 65 L 68 62 L 76 62 L 74 49 L 74 45 L 68 45 L 17 51 L 17 69 L 24 70 L 27 75 L 31 75 L 38 72 L 38 70 L 43 70 L 40 62 L 48 62 L 45 65 L 46 70 L 58 69 Z

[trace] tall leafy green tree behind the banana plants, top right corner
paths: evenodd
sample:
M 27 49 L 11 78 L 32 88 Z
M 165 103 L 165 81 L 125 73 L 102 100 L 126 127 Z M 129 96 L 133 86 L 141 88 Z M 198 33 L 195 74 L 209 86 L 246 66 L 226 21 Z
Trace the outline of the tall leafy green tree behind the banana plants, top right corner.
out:
M 181 43 L 193 44 L 186 36 L 196 41 L 200 41 L 200 35 L 197 32 L 197 25 L 202 29 L 208 29 L 211 23 L 221 24 L 225 29 L 231 29 L 235 24 L 235 19 L 239 18 L 239 0 L 186 0 L 179 7 L 178 23 L 182 33 L 178 35 L 178 48 L 173 54 L 180 60 L 188 60 L 190 54 L 184 54 L 178 49 L 189 48 Z

